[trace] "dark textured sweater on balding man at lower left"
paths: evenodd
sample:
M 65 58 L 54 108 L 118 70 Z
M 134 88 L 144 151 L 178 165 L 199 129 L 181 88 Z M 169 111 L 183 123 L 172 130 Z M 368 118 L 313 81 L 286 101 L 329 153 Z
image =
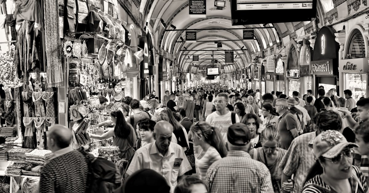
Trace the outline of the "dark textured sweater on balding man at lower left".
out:
M 39 193 L 86 192 L 87 173 L 86 157 L 79 151 L 58 156 L 42 169 Z

